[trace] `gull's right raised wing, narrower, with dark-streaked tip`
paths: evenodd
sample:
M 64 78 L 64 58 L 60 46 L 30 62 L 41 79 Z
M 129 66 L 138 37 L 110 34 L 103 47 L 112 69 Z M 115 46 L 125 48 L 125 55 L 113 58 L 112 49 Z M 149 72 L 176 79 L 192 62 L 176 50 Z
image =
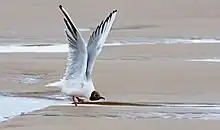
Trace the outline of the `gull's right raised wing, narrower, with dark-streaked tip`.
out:
M 92 35 L 89 38 L 87 51 L 88 51 L 88 61 L 86 69 L 86 77 L 91 78 L 92 69 L 96 57 L 102 50 L 103 44 L 105 43 L 108 34 L 111 30 L 111 27 L 115 21 L 117 10 L 113 10 L 108 17 L 103 20 L 97 28 L 92 32 Z

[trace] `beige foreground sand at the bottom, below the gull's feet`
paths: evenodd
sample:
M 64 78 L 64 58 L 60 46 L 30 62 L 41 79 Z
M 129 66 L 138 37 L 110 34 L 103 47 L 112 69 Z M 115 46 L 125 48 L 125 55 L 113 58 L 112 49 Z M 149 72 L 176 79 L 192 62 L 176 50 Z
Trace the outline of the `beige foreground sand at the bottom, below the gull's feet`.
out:
M 169 129 L 200 129 L 218 130 L 219 121 L 210 120 L 176 120 L 176 119 L 114 119 L 105 116 L 116 111 L 104 107 L 51 107 L 27 116 L 11 119 L 0 125 L 4 130 L 26 129 L 140 129 L 169 130 Z

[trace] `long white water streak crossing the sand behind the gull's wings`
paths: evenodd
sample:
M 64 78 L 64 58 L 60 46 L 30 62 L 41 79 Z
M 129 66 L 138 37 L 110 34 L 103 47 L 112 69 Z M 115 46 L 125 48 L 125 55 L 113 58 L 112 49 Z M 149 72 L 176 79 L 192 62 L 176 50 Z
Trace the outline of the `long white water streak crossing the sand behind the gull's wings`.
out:
M 220 43 L 218 39 L 145 39 L 145 40 L 130 40 L 130 41 L 116 41 L 106 43 L 104 46 L 121 46 L 121 45 L 140 45 L 140 44 L 194 44 L 194 43 Z M 49 44 L 37 43 L 31 45 L 13 45 L 0 46 L 0 53 L 12 52 L 68 52 L 68 44 Z

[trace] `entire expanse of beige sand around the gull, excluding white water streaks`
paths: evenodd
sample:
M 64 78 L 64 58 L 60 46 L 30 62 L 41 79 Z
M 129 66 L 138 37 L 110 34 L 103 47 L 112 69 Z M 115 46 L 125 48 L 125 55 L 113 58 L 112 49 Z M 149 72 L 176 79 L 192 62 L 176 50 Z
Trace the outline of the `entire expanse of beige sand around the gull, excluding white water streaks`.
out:
M 62 15 L 58 10 L 58 5 L 63 4 L 77 27 L 85 29 L 94 28 L 112 9 L 118 9 L 108 41 L 194 36 L 213 38 L 219 35 L 219 3 L 217 0 L 2 0 L 0 37 L 1 40 L 20 43 L 65 43 Z M 87 38 L 90 32 L 82 33 Z M 44 85 L 62 77 L 66 56 L 67 53 L 0 54 L 0 92 L 25 97 L 59 94 L 58 88 Z M 93 78 L 96 89 L 108 101 L 220 103 L 220 64 L 186 61 L 213 57 L 220 58 L 220 44 L 105 47 L 96 61 Z M 37 75 L 40 80 L 25 84 L 17 78 L 21 75 Z M 163 112 L 149 107 L 50 106 L 0 123 L 0 129 L 220 128 L 219 121 L 213 120 L 146 117 L 146 114 L 158 111 Z M 185 112 L 176 111 L 181 111 L 179 115 Z M 195 111 L 195 114 L 200 114 Z

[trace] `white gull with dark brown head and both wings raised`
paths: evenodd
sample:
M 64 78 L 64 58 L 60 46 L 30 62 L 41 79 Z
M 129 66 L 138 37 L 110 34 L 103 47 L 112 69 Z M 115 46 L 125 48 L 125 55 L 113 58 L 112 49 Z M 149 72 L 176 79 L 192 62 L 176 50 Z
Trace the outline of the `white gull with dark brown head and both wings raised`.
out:
M 92 31 L 88 42 L 85 42 L 68 12 L 62 5 L 59 5 L 59 9 L 64 15 L 63 21 L 66 25 L 64 34 L 69 49 L 66 69 L 64 76 L 59 81 L 45 86 L 61 88 L 62 93 L 72 97 L 72 104 L 75 104 L 75 106 L 77 106 L 76 100 L 78 102 L 83 102 L 84 99 L 90 101 L 105 100 L 105 97 L 101 96 L 95 89 L 92 70 L 113 26 L 118 10 L 114 9 L 110 12 Z

